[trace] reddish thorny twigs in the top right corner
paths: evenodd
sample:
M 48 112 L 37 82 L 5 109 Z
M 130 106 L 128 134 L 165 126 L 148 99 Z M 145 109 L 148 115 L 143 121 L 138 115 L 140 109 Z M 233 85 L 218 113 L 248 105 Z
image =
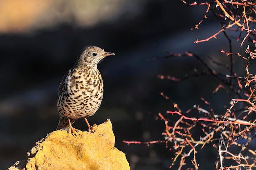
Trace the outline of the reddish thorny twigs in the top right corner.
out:
M 250 0 L 250 1 L 240 0 L 240 2 L 236 0 L 215 0 L 214 2 L 211 2 L 211 3 L 193 2 L 191 4 L 188 4 L 184 0 L 181 0 L 181 1 L 188 6 L 195 6 L 195 5 L 207 6 L 204 18 L 198 24 L 195 25 L 194 29 L 199 29 L 198 26 L 202 24 L 202 22 L 207 18 L 207 15 L 210 10 L 213 11 L 215 17 L 218 20 L 222 20 L 221 22 L 222 29 L 220 29 L 217 33 L 214 33 L 213 35 L 211 35 L 209 38 L 206 38 L 203 40 L 196 40 L 194 43 L 207 42 L 212 38 L 216 39 L 218 34 L 220 34 L 221 32 L 225 32 L 226 30 L 229 30 L 229 31 L 240 30 L 241 32 L 242 31 L 247 32 L 240 46 L 243 45 L 245 40 L 256 43 L 255 29 L 254 29 L 254 26 L 251 26 L 251 24 L 256 22 L 256 18 L 255 18 L 256 4 L 254 0 Z M 240 12 L 240 15 L 237 14 L 238 12 Z M 223 22 L 223 20 L 225 20 L 225 22 Z M 237 28 L 231 29 L 231 27 L 235 25 L 237 26 Z M 250 29 L 250 27 L 252 27 L 253 29 Z M 240 37 L 241 35 L 242 34 L 239 35 L 238 40 L 241 39 Z

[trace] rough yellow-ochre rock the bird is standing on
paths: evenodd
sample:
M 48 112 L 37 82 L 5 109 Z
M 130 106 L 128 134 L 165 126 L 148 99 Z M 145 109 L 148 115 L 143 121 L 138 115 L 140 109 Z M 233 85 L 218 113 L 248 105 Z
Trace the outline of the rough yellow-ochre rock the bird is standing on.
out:
M 79 130 L 77 138 L 65 130 L 54 131 L 36 142 L 27 160 L 8 170 L 130 170 L 125 154 L 114 147 L 110 120 L 94 128 L 95 134 Z

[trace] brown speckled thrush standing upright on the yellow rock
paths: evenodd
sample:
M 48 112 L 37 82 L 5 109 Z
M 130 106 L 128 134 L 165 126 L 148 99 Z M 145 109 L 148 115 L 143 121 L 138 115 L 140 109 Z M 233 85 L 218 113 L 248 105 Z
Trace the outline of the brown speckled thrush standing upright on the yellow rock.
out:
M 79 130 L 72 124 L 84 118 L 90 132 L 86 117 L 94 115 L 103 98 L 103 80 L 97 64 L 105 57 L 115 53 L 105 52 L 97 46 L 89 46 L 77 57 L 74 66 L 64 75 L 58 88 L 58 112 L 60 119 L 56 130 L 67 130 L 74 137 Z

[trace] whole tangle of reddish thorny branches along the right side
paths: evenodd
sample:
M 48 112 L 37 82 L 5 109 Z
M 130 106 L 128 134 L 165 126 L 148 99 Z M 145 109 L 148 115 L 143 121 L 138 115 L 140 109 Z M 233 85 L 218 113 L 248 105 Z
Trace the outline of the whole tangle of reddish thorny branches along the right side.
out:
M 160 93 L 165 99 L 169 100 L 173 105 L 173 110 L 168 110 L 167 115 L 162 113 L 158 117 L 164 121 L 165 129 L 162 132 L 163 140 L 140 142 L 140 141 L 124 141 L 127 144 L 156 144 L 165 143 L 166 148 L 170 148 L 175 154 L 171 159 L 172 168 L 178 162 L 179 170 L 182 168 L 195 168 L 198 170 L 198 150 L 213 147 L 216 150 L 216 170 L 253 170 L 256 169 L 256 75 L 251 74 L 250 64 L 256 58 L 256 50 L 251 51 L 252 47 L 248 45 L 241 50 L 245 51 L 245 55 L 234 53 L 232 51 L 231 38 L 227 34 L 228 31 L 238 32 L 237 41 L 241 41 L 240 46 L 245 41 L 256 44 L 256 30 L 254 29 L 256 22 L 256 0 L 213 0 L 213 2 L 193 2 L 188 3 L 181 0 L 187 6 L 207 7 L 204 17 L 193 29 L 199 29 L 209 11 L 213 12 L 215 18 L 219 21 L 221 29 L 203 40 L 196 40 L 194 43 L 207 42 L 217 35 L 224 33 L 229 43 L 229 51 L 220 50 L 220 54 L 230 57 L 229 63 L 219 63 L 213 58 L 210 59 L 211 64 L 216 64 L 229 71 L 229 75 L 218 73 L 213 70 L 202 57 L 192 52 L 185 53 L 168 53 L 164 57 L 155 57 L 154 60 L 163 60 L 172 57 L 194 57 L 203 66 L 204 70 L 198 72 L 194 70 L 192 74 L 186 74 L 182 77 L 171 75 L 157 75 L 160 79 L 169 79 L 175 82 L 182 82 L 193 77 L 210 75 L 218 82 L 218 86 L 213 93 L 223 88 L 230 99 L 229 108 L 225 113 L 216 113 L 211 104 L 201 97 L 203 104 L 207 106 L 203 108 L 199 104 L 194 105 L 186 111 L 182 111 L 178 104 L 171 101 L 170 97 Z M 244 62 L 244 68 L 235 68 L 234 62 L 239 59 Z M 238 76 L 238 69 L 244 69 L 245 75 Z M 239 105 L 238 105 L 239 104 Z M 223 106 L 223 105 L 222 105 Z M 196 113 L 196 114 L 195 114 Z M 171 117 L 169 119 L 169 117 Z M 175 121 L 173 121 L 175 117 Z M 198 129 L 200 128 L 200 132 Z M 196 134 L 195 134 L 195 131 Z M 200 137 L 198 137 L 200 133 Z M 235 149 L 236 148 L 236 149 Z M 189 163 L 190 162 L 190 163 Z

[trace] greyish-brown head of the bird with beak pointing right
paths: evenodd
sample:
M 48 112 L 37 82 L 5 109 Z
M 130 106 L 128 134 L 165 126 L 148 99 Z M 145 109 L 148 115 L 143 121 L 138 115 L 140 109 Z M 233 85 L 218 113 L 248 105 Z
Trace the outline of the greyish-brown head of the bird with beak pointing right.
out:
M 105 52 L 97 46 L 89 46 L 79 55 L 76 64 L 79 66 L 97 66 L 101 59 L 109 55 L 115 55 L 115 53 Z

